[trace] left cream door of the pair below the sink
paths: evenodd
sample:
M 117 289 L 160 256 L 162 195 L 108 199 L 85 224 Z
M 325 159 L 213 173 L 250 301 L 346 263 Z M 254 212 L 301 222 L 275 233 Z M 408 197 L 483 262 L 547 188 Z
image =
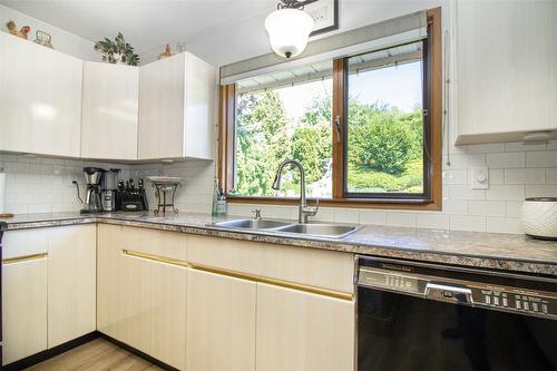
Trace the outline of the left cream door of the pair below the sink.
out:
M 189 270 L 186 370 L 255 370 L 255 295 L 254 282 Z

